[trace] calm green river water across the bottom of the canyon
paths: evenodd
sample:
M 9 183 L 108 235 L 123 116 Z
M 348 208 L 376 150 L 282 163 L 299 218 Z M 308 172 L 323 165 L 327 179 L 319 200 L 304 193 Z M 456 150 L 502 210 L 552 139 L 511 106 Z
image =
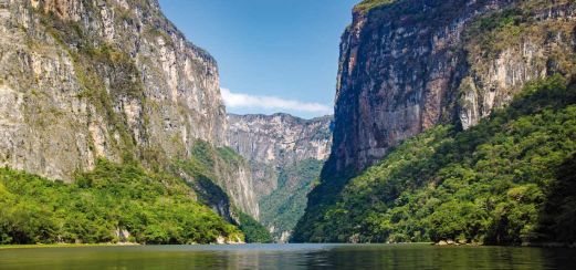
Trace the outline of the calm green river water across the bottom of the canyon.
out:
M 429 245 L 146 246 L 0 250 L 0 269 L 576 269 L 576 250 Z

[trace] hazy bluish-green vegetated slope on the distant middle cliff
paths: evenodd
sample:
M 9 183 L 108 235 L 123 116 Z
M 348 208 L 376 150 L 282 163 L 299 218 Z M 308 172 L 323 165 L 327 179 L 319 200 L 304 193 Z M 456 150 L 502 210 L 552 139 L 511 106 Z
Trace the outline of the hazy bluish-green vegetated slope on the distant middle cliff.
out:
M 322 164 L 310 158 L 281 168 L 277 188 L 260 200 L 260 218 L 266 227 L 274 226 L 275 238 L 292 231 L 304 215 L 306 195 L 312 189 L 312 181 L 318 178 Z

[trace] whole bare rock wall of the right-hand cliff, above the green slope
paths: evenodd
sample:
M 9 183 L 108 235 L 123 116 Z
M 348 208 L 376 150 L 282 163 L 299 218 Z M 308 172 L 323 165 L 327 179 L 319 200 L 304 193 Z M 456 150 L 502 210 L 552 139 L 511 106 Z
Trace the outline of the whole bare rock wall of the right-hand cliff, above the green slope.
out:
M 438 124 L 470 128 L 527 82 L 574 74 L 575 27 L 576 3 L 566 0 L 357 6 L 342 39 L 332 154 L 296 239 L 312 240 L 349 179 L 402 141 Z

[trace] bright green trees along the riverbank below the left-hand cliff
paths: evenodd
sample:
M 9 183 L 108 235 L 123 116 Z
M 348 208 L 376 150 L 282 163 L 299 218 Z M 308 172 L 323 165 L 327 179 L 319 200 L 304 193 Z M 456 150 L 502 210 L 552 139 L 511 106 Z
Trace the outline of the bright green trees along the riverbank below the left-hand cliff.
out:
M 98 160 L 70 185 L 3 168 L 0 196 L 0 243 L 209 243 L 242 237 L 196 202 L 184 181 L 136 164 Z M 130 238 L 119 239 L 118 229 Z

